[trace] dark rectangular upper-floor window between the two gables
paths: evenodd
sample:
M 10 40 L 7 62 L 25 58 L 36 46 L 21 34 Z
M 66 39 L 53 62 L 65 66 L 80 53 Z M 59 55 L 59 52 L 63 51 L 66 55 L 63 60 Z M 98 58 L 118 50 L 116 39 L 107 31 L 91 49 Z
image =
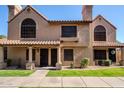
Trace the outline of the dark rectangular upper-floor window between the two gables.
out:
M 77 27 L 76 26 L 62 26 L 61 37 L 76 37 Z

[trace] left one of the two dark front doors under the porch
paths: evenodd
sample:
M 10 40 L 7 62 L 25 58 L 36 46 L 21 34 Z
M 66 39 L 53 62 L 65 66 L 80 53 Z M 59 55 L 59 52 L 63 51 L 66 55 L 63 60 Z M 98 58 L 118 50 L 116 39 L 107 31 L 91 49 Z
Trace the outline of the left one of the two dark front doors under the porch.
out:
M 40 66 L 48 66 L 48 49 L 40 49 Z

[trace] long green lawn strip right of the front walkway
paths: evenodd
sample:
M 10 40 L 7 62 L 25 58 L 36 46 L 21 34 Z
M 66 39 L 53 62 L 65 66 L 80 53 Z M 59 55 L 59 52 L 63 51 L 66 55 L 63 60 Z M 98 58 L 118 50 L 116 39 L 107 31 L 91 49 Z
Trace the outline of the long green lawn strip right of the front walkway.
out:
M 124 76 L 124 68 L 108 68 L 97 70 L 50 70 L 47 76 L 98 76 L 117 77 Z

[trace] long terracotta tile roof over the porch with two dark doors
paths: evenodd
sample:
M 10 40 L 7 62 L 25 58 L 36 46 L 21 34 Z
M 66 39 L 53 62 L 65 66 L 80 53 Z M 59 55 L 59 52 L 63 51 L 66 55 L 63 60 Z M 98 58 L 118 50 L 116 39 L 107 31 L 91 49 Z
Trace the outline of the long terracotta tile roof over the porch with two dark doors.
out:
M 20 41 L 0 39 L 0 45 L 59 45 L 60 41 Z

